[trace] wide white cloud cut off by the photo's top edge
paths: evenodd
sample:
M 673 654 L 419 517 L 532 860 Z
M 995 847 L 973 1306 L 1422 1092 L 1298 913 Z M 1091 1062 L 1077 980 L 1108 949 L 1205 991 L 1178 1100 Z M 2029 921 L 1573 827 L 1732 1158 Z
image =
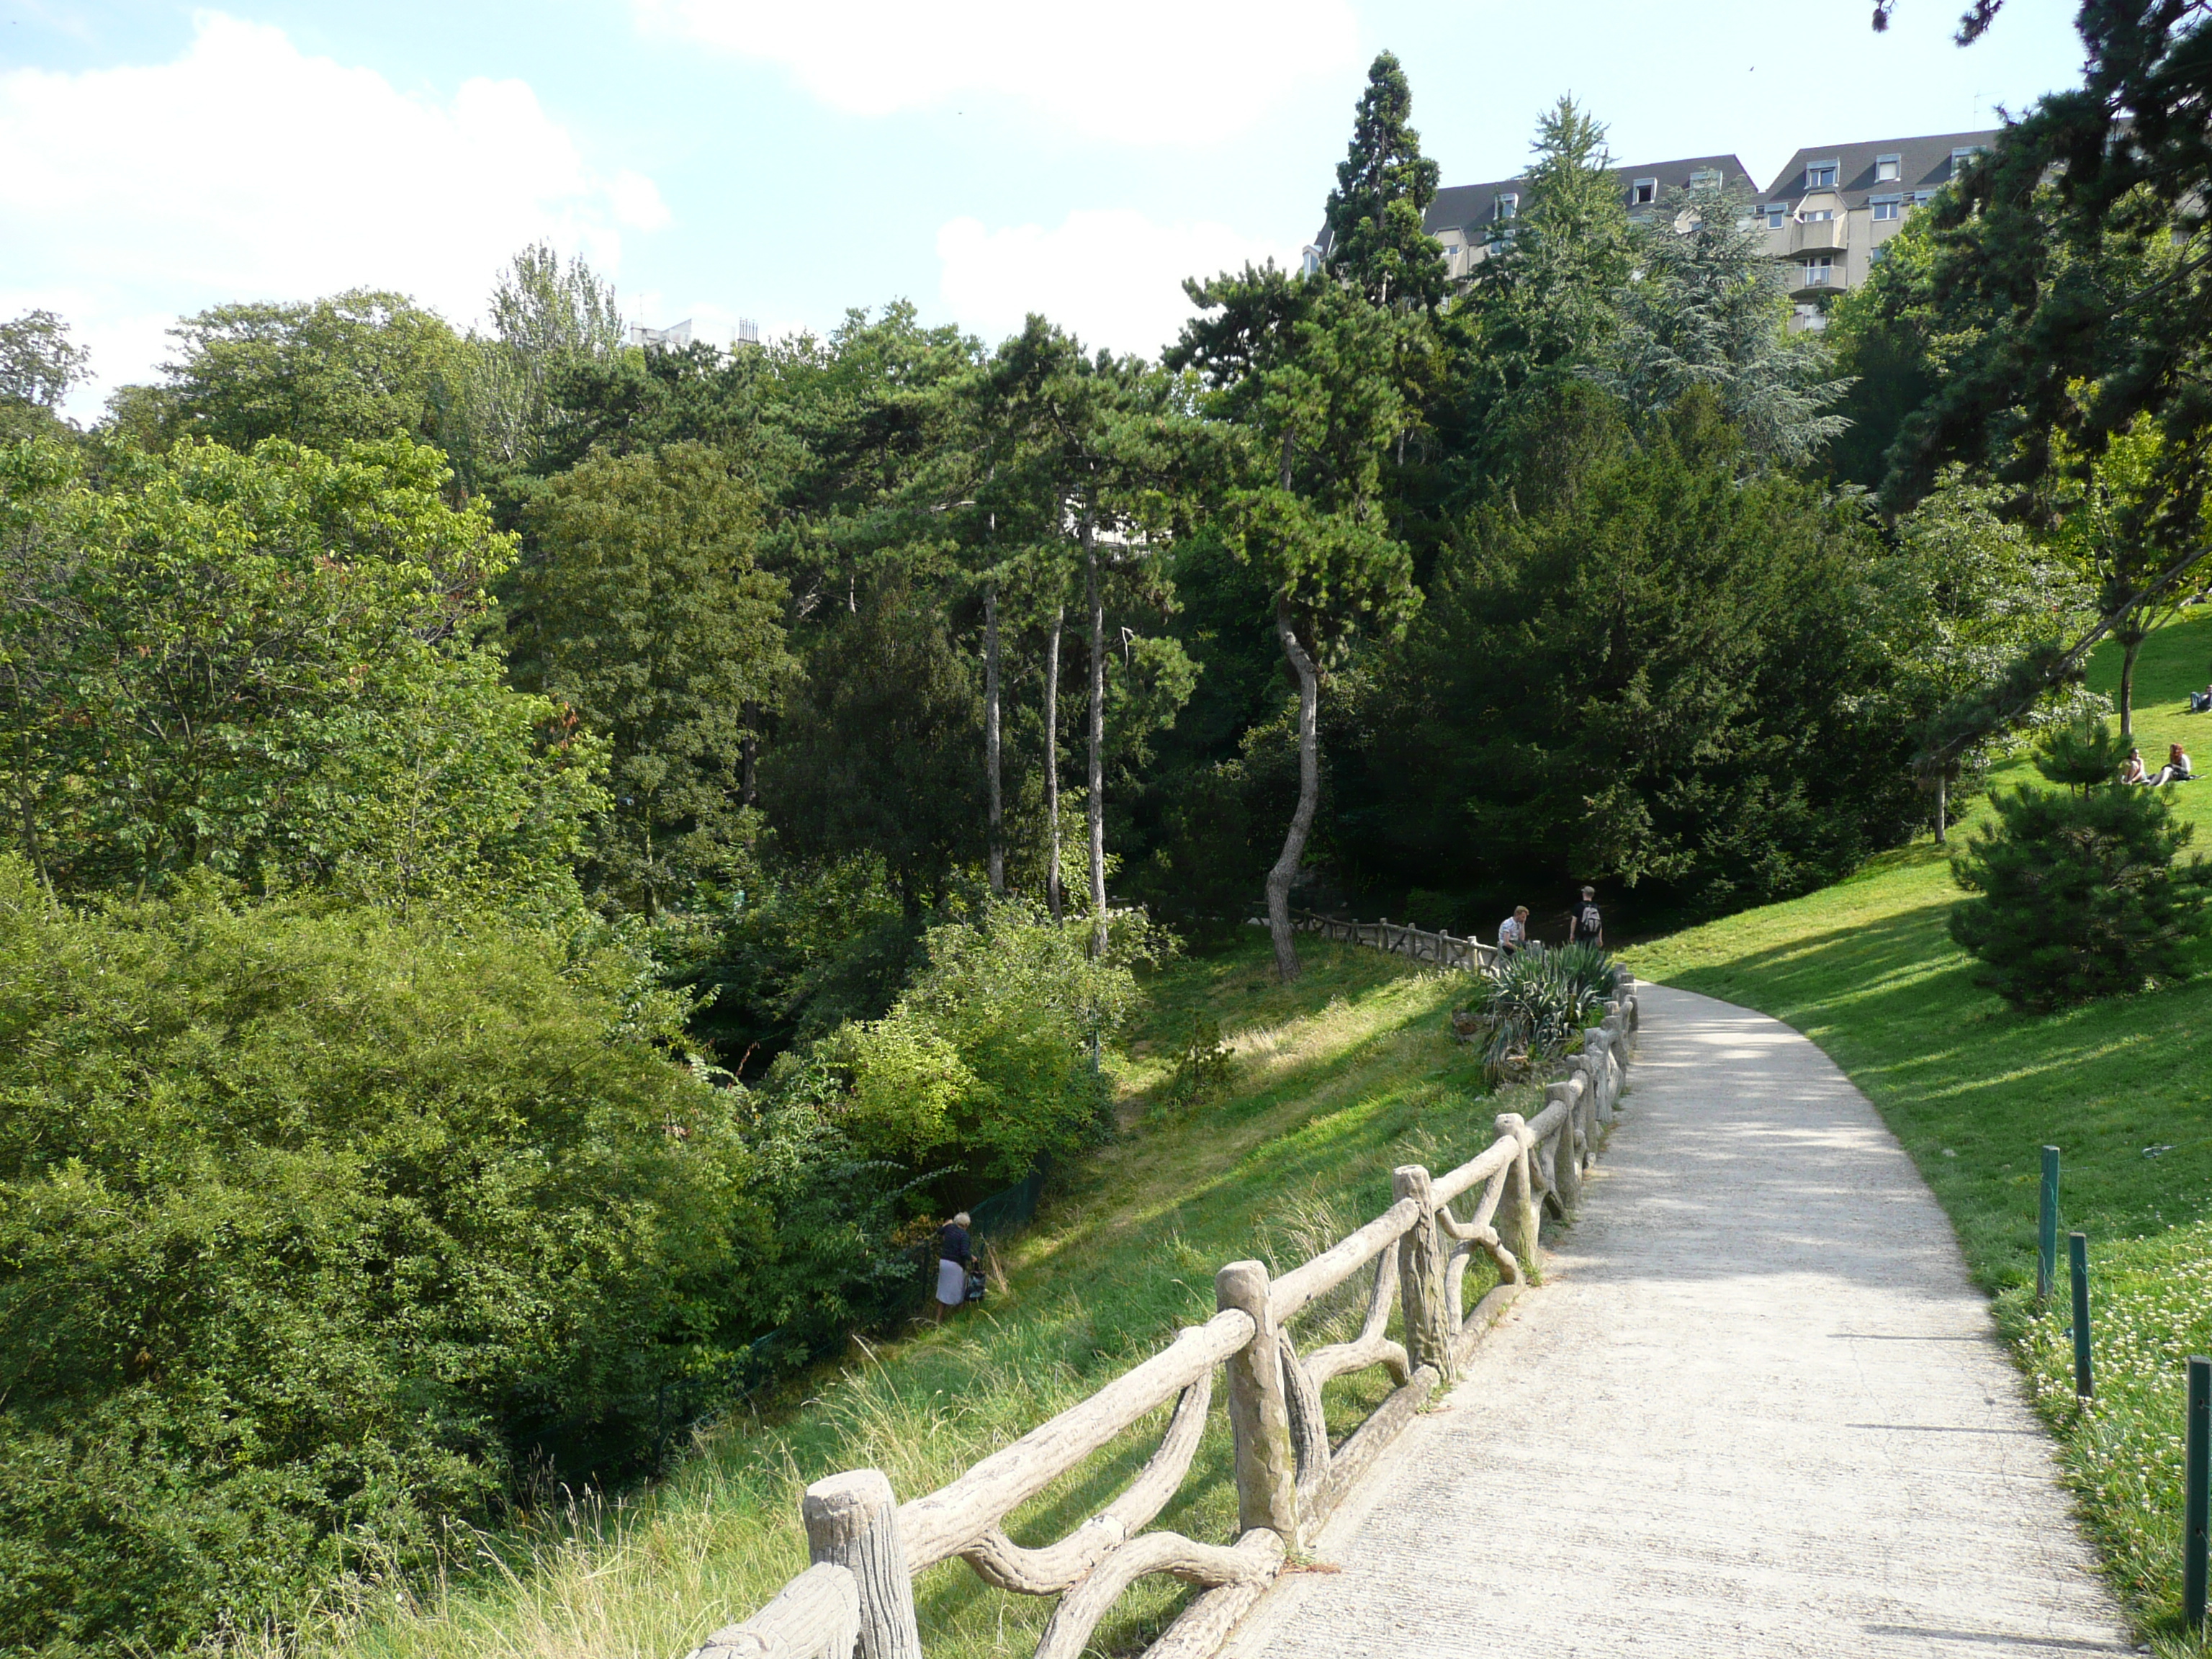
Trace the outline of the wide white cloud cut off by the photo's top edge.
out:
M 1219 139 L 1358 69 L 1349 0 L 633 0 L 646 29 L 783 64 L 852 115 L 987 95 L 1091 137 Z

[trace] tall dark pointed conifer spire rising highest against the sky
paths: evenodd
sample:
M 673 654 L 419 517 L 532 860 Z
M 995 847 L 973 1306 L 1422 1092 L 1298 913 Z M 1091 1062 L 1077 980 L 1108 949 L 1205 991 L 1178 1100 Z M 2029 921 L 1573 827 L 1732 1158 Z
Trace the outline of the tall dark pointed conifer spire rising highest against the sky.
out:
M 1374 305 L 1433 310 L 1451 283 L 1444 243 L 1422 230 L 1440 175 L 1420 153 L 1411 113 L 1413 88 L 1398 60 L 1376 55 L 1329 192 L 1329 270 Z

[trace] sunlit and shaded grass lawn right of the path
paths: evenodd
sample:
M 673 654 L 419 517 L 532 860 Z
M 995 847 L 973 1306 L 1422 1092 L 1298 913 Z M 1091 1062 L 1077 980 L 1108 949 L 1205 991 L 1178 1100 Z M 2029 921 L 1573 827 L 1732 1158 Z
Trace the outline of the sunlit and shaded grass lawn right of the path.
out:
M 2135 732 L 2152 768 L 2181 741 L 2212 774 L 2212 717 L 2183 712 L 2208 664 L 2203 611 L 2146 641 Z M 2090 684 L 2117 690 L 2117 653 L 2097 657 Z M 2002 781 L 2028 779 L 2015 763 Z M 2172 799 L 2212 854 L 2212 781 Z M 1922 841 L 1836 887 L 1626 960 L 1644 978 L 1790 1022 L 1874 1099 L 1995 1296 L 2115 1590 L 2159 1652 L 2212 1652 L 2181 1628 L 2183 1360 L 2212 1352 L 2212 973 L 2020 1015 L 1975 989 L 1971 958 L 1951 945 L 1955 898 L 1942 849 Z M 2090 1241 L 2097 1402 L 2086 1409 L 2062 1338 L 2064 1290 L 2051 1312 L 2035 1307 L 2046 1144 L 2064 1159 L 2064 1230 Z M 2062 1285 L 2064 1272 L 2062 1243 Z

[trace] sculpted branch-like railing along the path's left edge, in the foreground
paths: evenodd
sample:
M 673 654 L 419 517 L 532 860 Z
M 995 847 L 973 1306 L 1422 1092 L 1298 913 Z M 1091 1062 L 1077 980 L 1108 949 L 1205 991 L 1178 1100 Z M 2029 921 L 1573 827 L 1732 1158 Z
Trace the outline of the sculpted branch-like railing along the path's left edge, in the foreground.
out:
M 1214 1274 L 1219 1312 L 1210 1321 L 1177 1332 L 1144 1365 L 949 1486 L 900 1504 L 876 1469 L 816 1480 L 801 1502 L 814 1564 L 750 1619 L 710 1635 L 692 1659 L 920 1659 L 914 1575 L 956 1555 L 1002 1590 L 1060 1597 L 1037 1659 L 1077 1659 L 1119 1595 L 1152 1573 L 1199 1584 L 1206 1595 L 1146 1659 L 1212 1655 L 1285 1553 L 1314 1535 L 1528 1287 L 1542 1210 L 1564 1217 L 1579 1203 L 1584 1170 L 1621 1095 L 1635 1029 L 1635 980 L 1624 971 L 1604 1024 L 1584 1033 L 1566 1077 L 1546 1086 L 1544 1110 L 1531 1119 L 1500 1115 L 1489 1148 L 1447 1175 L 1418 1164 L 1398 1168 L 1389 1210 L 1281 1279 L 1259 1261 L 1232 1261 Z M 1453 1208 L 1462 1199 L 1471 1201 L 1464 1217 Z M 1498 1263 L 1498 1285 L 1462 1316 L 1475 1250 Z M 1360 1334 L 1301 1354 L 1298 1316 L 1369 1265 Z M 1405 1310 L 1402 1343 L 1387 1334 L 1394 1303 Z M 1332 1447 L 1323 1385 L 1374 1365 L 1396 1387 Z M 1237 1542 L 1146 1531 L 1199 1451 L 1217 1369 L 1234 1436 Z M 1119 1498 L 1057 1544 L 1031 1548 L 1006 1537 L 1015 1509 L 1170 1400 L 1159 1449 Z

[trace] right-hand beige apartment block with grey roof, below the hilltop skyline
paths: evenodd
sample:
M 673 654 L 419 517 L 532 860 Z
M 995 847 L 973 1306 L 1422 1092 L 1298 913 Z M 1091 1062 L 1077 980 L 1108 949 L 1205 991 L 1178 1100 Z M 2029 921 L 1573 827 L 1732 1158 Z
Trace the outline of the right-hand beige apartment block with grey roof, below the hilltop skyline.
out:
M 1882 243 L 1997 133 L 1940 133 L 1798 150 L 1759 199 L 1767 252 L 1790 268 L 1794 327 L 1867 281 Z

